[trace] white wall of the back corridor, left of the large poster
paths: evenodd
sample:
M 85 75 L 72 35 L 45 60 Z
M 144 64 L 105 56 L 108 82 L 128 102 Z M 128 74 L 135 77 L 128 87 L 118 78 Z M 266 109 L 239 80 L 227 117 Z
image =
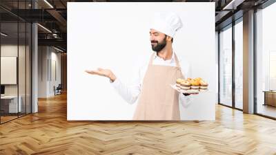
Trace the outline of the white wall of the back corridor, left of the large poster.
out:
M 48 98 L 55 95 L 54 86 L 57 86 L 61 83 L 61 54 L 57 52 L 58 51 L 55 50 L 55 48 L 52 48 L 50 46 L 39 46 L 39 98 Z M 53 67 L 55 65 L 56 67 Z M 57 79 L 55 79 L 55 75 L 53 75 L 52 73 L 57 73 Z

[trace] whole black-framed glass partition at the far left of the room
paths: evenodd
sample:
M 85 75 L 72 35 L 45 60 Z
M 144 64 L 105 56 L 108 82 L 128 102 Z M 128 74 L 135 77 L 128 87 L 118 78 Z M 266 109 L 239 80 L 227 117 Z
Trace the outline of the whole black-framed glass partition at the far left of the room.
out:
M 0 1 L 14 11 L 31 1 Z M 28 21 L 0 8 L 0 123 L 31 113 L 31 36 Z

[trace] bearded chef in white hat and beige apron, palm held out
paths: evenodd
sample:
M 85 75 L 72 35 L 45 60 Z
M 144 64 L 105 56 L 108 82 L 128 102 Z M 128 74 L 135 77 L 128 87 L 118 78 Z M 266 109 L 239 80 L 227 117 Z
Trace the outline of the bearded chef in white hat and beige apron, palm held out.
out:
M 170 87 L 177 78 L 188 78 L 189 66 L 181 65 L 172 51 L 173 37 L 182 27 L 181 19 L 174 13 L 155 15 L 150 27 L 152 53 L 150 61 L 139 69 L 132 86 L 126 86 L 109 69 L 86 71 L 92 75 L 110 78 L 112 86 L 130 104 L 138 100 L 133 120 L 180 120 L 179 102 L 190 100 Z

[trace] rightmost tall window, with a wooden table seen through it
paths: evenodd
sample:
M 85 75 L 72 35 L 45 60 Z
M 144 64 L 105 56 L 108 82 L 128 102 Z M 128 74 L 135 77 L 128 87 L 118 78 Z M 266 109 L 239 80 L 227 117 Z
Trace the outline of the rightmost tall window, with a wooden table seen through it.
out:
M 276 3 L 256 12 L 256 112 L 276 118 Z

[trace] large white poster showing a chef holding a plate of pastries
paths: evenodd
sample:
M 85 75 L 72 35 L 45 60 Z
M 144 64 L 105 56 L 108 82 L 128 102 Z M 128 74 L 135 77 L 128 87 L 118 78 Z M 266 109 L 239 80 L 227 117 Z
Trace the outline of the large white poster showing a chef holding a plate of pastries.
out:
M 68 120 L 215 120 L 215 65 L 215 3 L 68 3 Z

